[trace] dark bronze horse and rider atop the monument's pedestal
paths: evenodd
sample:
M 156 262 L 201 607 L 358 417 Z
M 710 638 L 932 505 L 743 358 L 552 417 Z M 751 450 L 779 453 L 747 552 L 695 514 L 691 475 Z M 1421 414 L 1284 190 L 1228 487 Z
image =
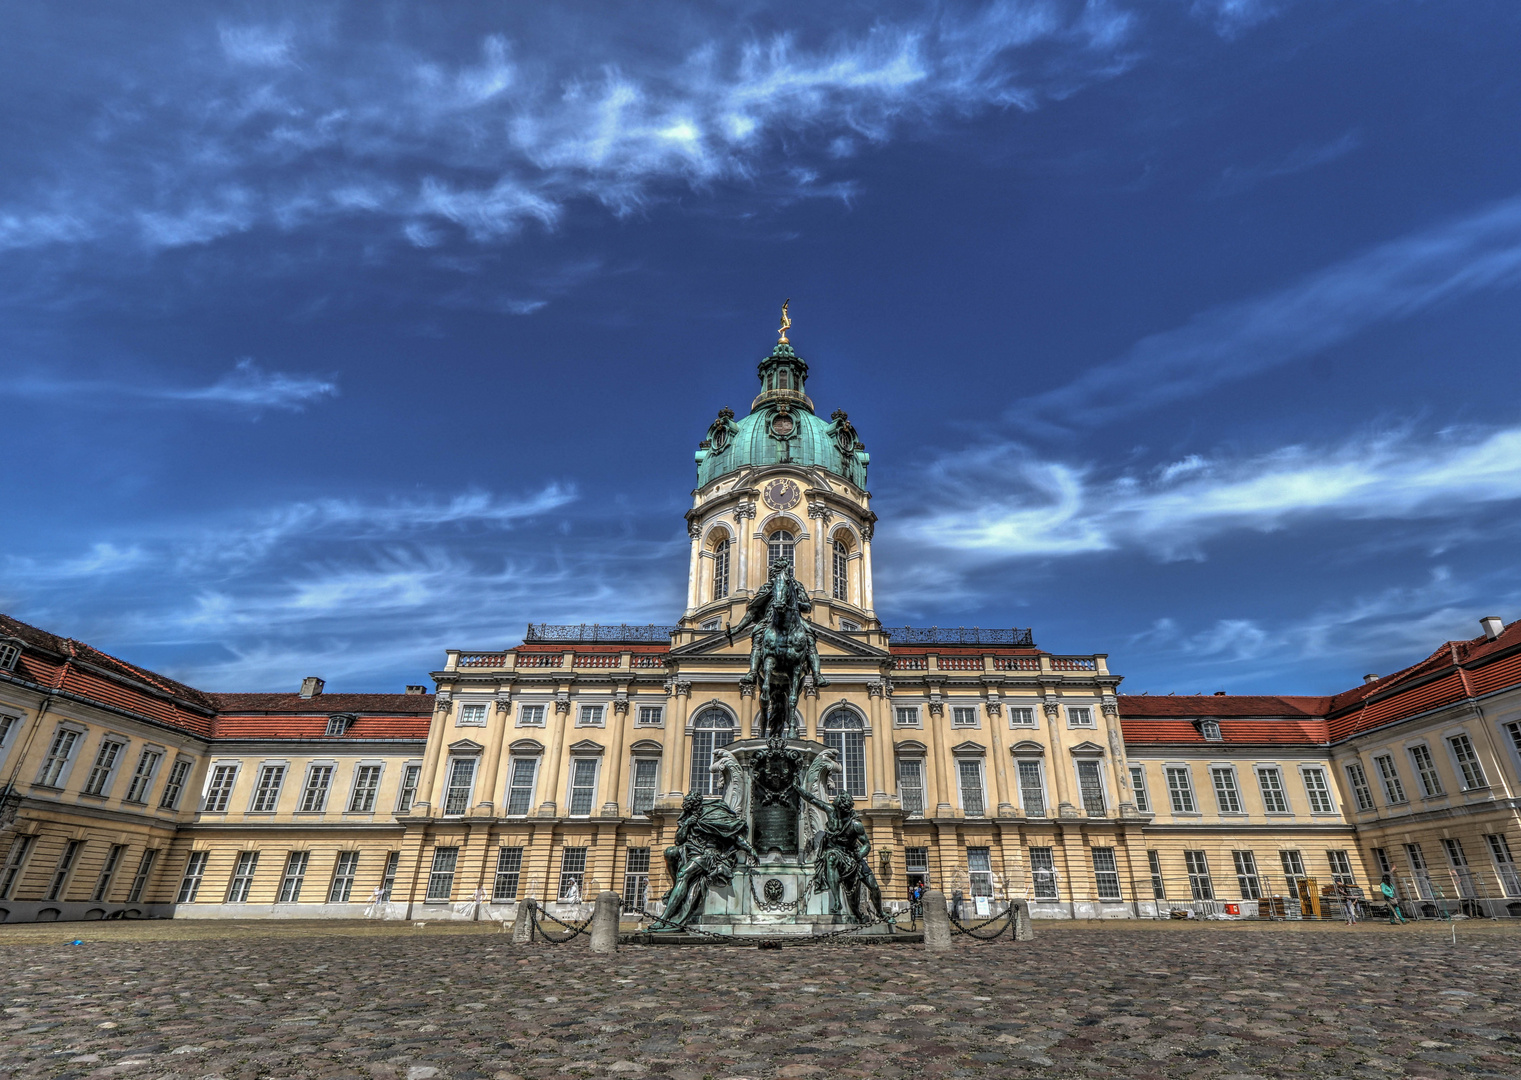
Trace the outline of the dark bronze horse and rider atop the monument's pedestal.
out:
M 814 610 L 808 590 L 792 577 L 792 564 L 785 558 L 771 563 L 767 583 L 756 590 L 738 627 L 726 627 L 730 643 L 735 634 L 750 631 L 750 672 L 741 686 L 760 688 L 760 735 L 765 738 L 797 738 L 797 695 L 803 678 L 814 677 L 814 686 L 829 686 L 818 669 L 818 637 L 803 618 Z

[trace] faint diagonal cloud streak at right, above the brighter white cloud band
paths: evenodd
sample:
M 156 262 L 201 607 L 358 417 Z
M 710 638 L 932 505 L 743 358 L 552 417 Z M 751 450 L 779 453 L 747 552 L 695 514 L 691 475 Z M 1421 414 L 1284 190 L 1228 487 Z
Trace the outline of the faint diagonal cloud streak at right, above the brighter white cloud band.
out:
M 1384 243 L 1264 297 L 1202 312 L 1010 417 L 1098 426 L 1314 356 L 1475 292 L 1521 284 L 1521 198 Z

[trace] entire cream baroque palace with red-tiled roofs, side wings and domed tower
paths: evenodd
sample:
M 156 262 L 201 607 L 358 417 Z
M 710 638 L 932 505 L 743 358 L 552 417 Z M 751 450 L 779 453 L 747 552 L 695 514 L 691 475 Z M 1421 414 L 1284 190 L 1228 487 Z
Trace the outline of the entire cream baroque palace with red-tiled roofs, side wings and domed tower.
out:
M 0 919 L 511 919 L 668 887 L 713 748 L 757 735 L 730 640 L 767 566 L 812 599 L 832 745 L 890 902 L 914 882 L 1048 917 L 1521 916 L 1521 622 L 1332 697 L 1118 694 L 1027 630 L 884 628 L 868 455 L 782 341 L 697 450 L 671 627 L 529 627 L 433 689 L 208 694 L 0 616 Z M 1282 897 L 1282 899 L 1275 899 Z

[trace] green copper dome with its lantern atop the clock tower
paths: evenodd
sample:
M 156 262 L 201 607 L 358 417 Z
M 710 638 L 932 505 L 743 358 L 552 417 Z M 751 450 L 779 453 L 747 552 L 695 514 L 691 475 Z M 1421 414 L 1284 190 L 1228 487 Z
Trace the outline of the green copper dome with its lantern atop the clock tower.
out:
M 697 485 L 745 467 L 812 465 L 865 488 L 872 456 L 861 446 L 849 417 L 840 409 L 826 423 L 805 392 L 808 365 L 786 341 L 760 361 L 760 394 L 750 414 L 735 420 L 722 409 L 697 450 Z

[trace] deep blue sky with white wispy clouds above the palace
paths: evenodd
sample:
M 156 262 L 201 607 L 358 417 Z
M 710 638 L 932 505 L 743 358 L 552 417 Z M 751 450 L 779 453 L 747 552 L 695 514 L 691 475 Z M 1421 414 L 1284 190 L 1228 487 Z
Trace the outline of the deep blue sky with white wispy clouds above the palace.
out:
M 1328 692 L 1521 615 L 1521 9 L 32 5 L 0 610 L 207 689 L 671 622 L 777 306 L 888 624 Z

